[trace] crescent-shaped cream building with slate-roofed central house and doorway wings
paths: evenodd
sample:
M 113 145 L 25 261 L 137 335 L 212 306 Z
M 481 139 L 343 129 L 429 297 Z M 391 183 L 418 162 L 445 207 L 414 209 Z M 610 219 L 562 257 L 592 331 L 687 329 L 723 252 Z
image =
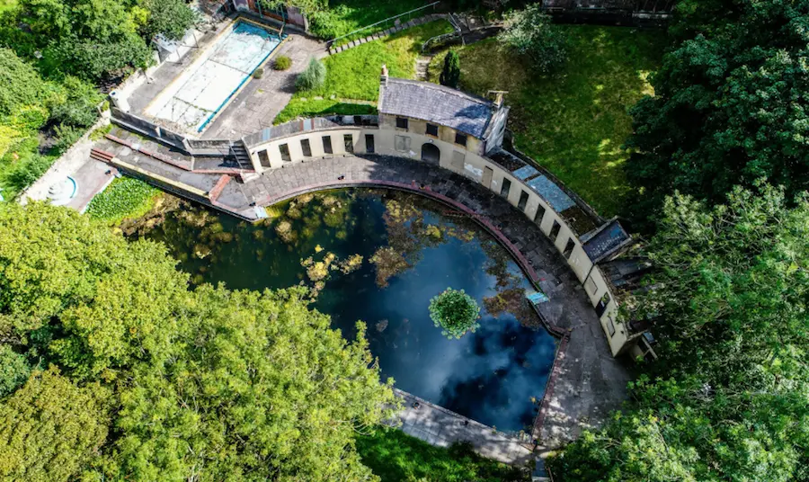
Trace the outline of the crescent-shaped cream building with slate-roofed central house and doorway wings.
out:
M 601 263 L 631 242 L 617 220 L 589 206 L 533 161 L 502 148 L 509 109 L 442 85 L 394 78 L 383 69 L 378 116 L 291 121 L 242 139 L 257 174 L 323 157 L 376 154 L 438 165 L 509 201 L 547 236 L 578 281 L 610 351 L 643 354 L 643 336 L 618 323 L 618 299 Z

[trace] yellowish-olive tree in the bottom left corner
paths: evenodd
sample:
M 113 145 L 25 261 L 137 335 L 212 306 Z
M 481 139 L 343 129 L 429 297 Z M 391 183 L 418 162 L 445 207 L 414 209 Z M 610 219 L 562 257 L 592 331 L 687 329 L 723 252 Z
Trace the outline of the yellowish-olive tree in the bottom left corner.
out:
M 0 404 L 0 476 L 75 480 L 98 458 L 110 422 L 109 390 L 77 387 L 51 368 Z

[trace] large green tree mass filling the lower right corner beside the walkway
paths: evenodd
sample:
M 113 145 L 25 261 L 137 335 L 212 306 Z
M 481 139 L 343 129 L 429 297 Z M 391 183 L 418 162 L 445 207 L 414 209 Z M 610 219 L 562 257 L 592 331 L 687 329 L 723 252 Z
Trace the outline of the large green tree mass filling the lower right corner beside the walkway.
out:
M 809 479 L 809 196 L 795 204 L 766 185 L 664 203 L 632 303 L 660 359 L 627 415 L 551 461 L 563 478 Z

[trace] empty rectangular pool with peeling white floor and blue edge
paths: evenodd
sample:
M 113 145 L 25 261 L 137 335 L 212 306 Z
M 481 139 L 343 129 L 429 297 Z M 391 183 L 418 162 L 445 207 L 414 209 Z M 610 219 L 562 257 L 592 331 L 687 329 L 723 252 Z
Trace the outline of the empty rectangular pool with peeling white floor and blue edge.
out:
M 276 31 L 238 21 L 147 107 L 150 116 L 201 132 L 280 44 Z

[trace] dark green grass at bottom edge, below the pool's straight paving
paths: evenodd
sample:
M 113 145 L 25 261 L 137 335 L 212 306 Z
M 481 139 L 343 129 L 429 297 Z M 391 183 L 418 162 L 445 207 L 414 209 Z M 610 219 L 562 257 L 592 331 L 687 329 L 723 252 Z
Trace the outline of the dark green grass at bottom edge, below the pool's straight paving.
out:
M 362 463 L 382 482 L 506 482 L 528 481 L 529 476 L 493 460 L 484 459 L 465 446 L 449 449 L 396 429 L 379 429 L 357 439 Z

